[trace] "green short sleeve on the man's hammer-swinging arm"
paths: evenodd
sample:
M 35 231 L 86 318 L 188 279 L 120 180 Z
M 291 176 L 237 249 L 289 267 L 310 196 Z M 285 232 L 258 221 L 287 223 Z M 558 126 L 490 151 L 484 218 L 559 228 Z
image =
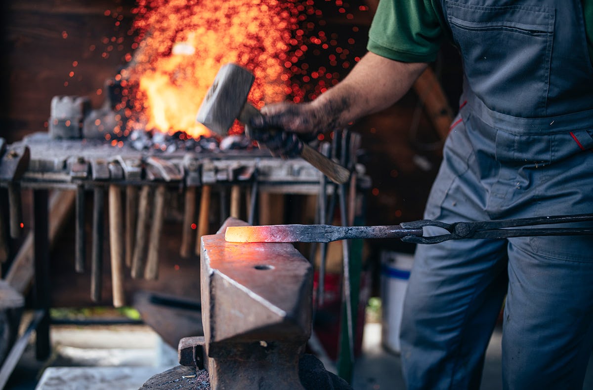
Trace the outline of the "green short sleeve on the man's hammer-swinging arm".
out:
M 402 62 L 433 62 L 444 37 L 444 20 L 432 0 L 381 0 L 366 48 Z

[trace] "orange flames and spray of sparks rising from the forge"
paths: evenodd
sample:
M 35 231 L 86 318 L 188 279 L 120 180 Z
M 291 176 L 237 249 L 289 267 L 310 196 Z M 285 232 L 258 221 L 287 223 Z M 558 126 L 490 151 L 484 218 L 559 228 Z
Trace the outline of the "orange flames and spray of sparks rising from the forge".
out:
M 354 44 L 352 37 L 340 44 L 336 33 L 323 31 L 326 23 L 318 6 L 325 4 L 336 7 L 346 20 L 355 18 L 342 0 L 318 4 L 314 0 L 138 0 L 132 9 L 136 15 L 132 29 L 127 31 L 135 36 L 133 54 L 123 56 L 127 66 L 116 76 L 122 87 L 116 110 L 126 117 L 119 134 L 145 129 L 182 132 L 182 139 L 183 133 L 193 138 L 211 135 L 195 116 L 227 62 L 254 73 L 248 100 L 256 107 L 287 97 L 294 103 L 313 100 L 359 60 L 344 47 Z M 359 7 L 352 12 L 366 11 Z M 116 20 L 116 28 L 121 12 L 122 7 L 105 11 Z M 360 33 L 353 25 L 351 34 Z M 104 37 L 101 56 L 108 58 L 114 44 L 123 50 L 122 41 L 123 37 Z M 90 50 L 95 49 L 91 45 Z M 308 62 L 308 52 L 325 66 Z M 235 123 L 231 133 L 241 131 Z

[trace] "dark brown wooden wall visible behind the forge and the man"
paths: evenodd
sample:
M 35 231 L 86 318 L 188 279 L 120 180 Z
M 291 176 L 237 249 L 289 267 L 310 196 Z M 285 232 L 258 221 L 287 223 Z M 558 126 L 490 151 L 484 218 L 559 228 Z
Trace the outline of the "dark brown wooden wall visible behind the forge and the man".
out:
M 103 95 L 97 91 L 125 65 L 123 56 L 132 43 L 128 30 L 133 20 L 130 12 L 133 5 L 132 0 L 2 2 L 0 85 L 4 103 L 0 108 L 0 136 L 11 143 L 27 134 L 46 131 L 50 101 L 55 95 L 89 96 L 93 106 L 100 106 Z M 332 15 L 328 20 L 327 30 L 352 27 Z M 369 20 L 366 14 L 359 23 L 368 28 Z M 359 41 L 356 47 L 364 54 L 364 42 Z M 457 107 L 461 71 L 454 49 L 445 47 L 436 70 L 451 106 Z M 366 224 L 391 225 L 422 218 L 423 204 L 440 162 L 440 150 L 438 136 L 416 95 L 410 92 L 396 106 L 355 123 L 353 130 L 362 134 L 365 150 L 362 162 L 372 180 Z M 197 260 L 179 260 L 178 232 L 176 228 L 165 231 L 169 235 L 163 245 L 166 254 L 162 257 L 167 263 L 163 279 L 158 284 L 130 284 L 129 289 L 170 290 L 177 295 L 191 296 L 193 290 L 188 291 L 186 287 L 196 283 L 196 277 L 177 270 L 179 266 L 182 270 L 188 267 L 197 270 Z M 84 305 L 90 303 L 86 292 L 88 275 L 74 273 L 69 257 L 73 250 L 66 247 L 72 244 L 68 241 L 71 239 L 72 234 L 66 234 L 65 246 L 58 251 L 56 259 L 59 265 L 52 266 L 57 282 L 55 302 Z M 378 252 L 385 249 L 410 250 L 410 247 L 403 247 L 398 241 L 373 242 L 371 261 L 376 263 Z M 106 253 L 109 252 L 106 250 Z M 108 274 L 109 261 L 105 263 Z M 183 282 L 178 282 L 179 278 Z M 176 282 L 167 283 L 167 280 Z M 72 289 L 81 295 L 73 298 Z M 104 290 L 104 296 L 109 298 L 109 282 L 104 283 Z

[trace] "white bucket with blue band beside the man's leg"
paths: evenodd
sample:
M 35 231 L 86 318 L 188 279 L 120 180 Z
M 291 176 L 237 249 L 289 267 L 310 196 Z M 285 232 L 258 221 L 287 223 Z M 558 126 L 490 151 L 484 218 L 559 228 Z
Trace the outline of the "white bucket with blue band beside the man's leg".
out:
M 394 251 L 381 253 L 381 340 L 383 347 L 400 353 L 401 312 L 414 257 Z

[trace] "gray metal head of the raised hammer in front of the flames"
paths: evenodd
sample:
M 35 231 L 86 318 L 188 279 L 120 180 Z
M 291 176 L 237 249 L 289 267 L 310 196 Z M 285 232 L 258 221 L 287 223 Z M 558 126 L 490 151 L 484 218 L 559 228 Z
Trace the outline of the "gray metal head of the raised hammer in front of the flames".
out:
M 218 135 L 227 135 L 247 102 L 254 79 L 251 72 L 235 63 L 223 65 L 197 111 L 197 122 Z

